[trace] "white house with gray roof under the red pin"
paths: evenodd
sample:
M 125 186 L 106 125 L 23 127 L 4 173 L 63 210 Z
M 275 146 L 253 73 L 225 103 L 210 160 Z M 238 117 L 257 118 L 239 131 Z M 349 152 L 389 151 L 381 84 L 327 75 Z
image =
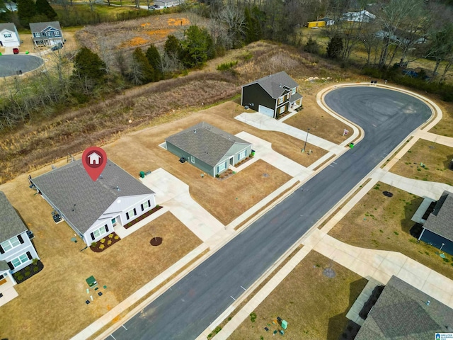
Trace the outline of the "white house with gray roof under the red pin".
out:
M 81 160 L 30 181 L 88 246 L 156 206 L 154 191 L 110 160 L 96 181 Z

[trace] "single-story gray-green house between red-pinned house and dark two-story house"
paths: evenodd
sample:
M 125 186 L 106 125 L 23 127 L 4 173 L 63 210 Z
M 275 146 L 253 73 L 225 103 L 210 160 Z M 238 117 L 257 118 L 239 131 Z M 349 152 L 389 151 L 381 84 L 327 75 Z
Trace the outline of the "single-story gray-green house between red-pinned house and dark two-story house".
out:
M 248 157 L 251 143 L 202 122 L 168 137 L 166 149 L 216 176 Z

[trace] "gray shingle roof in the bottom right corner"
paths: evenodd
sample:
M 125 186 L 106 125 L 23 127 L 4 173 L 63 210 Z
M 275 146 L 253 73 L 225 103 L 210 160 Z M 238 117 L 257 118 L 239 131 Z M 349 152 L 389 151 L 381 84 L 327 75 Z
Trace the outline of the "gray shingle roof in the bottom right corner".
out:
M 435 332 L 453 332 L 452 308 L 392 276 L 355 340 L 432 340 Z

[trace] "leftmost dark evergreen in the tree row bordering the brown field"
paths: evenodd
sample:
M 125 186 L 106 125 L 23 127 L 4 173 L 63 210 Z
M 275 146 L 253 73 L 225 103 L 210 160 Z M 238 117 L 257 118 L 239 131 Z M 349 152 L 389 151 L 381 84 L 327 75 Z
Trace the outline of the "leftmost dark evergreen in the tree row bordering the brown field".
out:
M 74 77 L 79 79 L 91 79 L 96 84 L 100 84 L 105 80 L 105 62 L 91 52 L 89 48 L 82 47 L 74 57 Z

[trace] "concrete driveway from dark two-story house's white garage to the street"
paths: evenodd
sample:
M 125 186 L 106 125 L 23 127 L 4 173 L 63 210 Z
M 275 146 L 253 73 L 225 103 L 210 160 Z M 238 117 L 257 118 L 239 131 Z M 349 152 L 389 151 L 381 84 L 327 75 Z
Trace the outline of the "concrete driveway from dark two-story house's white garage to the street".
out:
M 241 113 L 240 115 L 236 116 L 234 119 L 239 120 L 248 125 L 251 125 L 260 130 L 282 132 L 282 133 L 285 133 L 286 135 L 297 138 L 298 140 L 302 140 L 302 141 L 306 140 L 306 135 L 307 135 L 306 131 L 302 131 L 297 128 L 294 128 L 291 125 L 282 123 L 279 120 L 270 118 L 267 115 L 263 115 L 262 113 L 258 113 L 258 112 L 257 113 Z M 340 154 L 341 152 L 343 152 L 343 147 L 340 147 L 339 145 L 336 145 L 333 142 L 329 142 L 328 140 L 323 140 L 322 138 L 317 137 L 311 133 L 308 136 L 307 142 L 311 145 L 316 145 L 316 147 L 321 147 L 321 149 L 325 149 L 327 151 L 333 152 L 334 154 Z

